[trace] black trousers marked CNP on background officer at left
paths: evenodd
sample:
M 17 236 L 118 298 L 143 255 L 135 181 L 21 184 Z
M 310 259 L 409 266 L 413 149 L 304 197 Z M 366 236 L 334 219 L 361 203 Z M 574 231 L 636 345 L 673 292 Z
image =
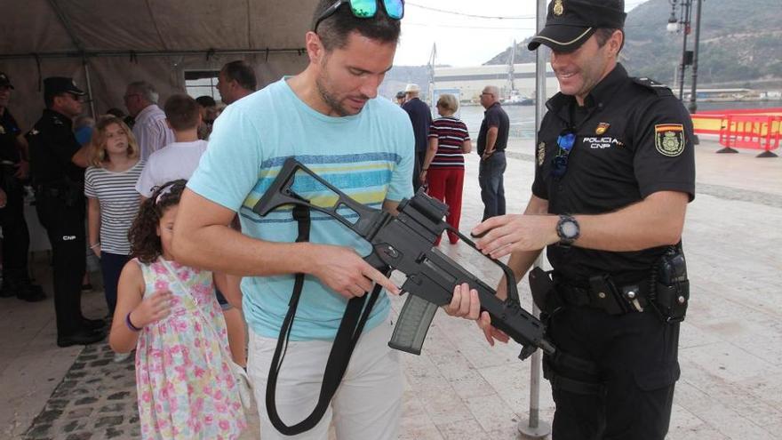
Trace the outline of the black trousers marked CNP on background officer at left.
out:
M 58 196 L 36 194 L 38 220 L 52 244 L 54 312 L 57 334 L 67 337 L 82 329 L 84 255 L 84 198 L 67 204 Z

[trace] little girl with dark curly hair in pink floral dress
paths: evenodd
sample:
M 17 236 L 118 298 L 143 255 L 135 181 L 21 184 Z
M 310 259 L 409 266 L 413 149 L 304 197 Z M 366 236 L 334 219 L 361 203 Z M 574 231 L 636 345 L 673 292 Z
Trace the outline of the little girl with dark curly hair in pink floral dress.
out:
M 185 182 L 157 188 L 140 206 L 109 344 L 136 348 L 143 439 L 235 439 L 246 423 L 212 274 L 172 260 Z

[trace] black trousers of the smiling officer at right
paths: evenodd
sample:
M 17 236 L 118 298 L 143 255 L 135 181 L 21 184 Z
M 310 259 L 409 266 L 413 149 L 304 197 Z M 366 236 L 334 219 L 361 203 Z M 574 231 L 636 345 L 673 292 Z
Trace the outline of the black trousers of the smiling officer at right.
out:
M 568 306 L 551 317 L 547 333 L 561 351 L 597 367 L 596 374 L 586 373 L 546 356 L 547 375 L 600 389 L 586 392 L 552 382 L 553 440 L 665 438 L 679 378 L 679 324 L 664 324 L 651 310 L 610 316 Z

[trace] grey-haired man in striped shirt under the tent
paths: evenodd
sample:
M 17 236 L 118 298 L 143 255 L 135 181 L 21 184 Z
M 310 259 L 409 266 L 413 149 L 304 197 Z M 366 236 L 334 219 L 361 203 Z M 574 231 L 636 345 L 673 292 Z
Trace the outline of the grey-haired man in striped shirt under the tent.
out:
M 146 81 L 128 84 L 123 97 L 128 113 L 136 119 L 133 135 L 136 136 L 144 160 L 175 140 L 174 132 L 165 124 L 164 111 L 157 107 L 158 98 L 155 86 Z

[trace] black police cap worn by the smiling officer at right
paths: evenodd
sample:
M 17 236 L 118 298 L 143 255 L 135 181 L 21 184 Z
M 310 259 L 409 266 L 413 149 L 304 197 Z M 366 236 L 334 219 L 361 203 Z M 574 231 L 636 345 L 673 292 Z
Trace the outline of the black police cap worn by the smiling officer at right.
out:
M 557 52 L 575 51 L 598 28 L 624 28 L 626 15 L 624 0 L 553 0 L 546 27 L 532 37 L 527 49 L 546 44 Z

